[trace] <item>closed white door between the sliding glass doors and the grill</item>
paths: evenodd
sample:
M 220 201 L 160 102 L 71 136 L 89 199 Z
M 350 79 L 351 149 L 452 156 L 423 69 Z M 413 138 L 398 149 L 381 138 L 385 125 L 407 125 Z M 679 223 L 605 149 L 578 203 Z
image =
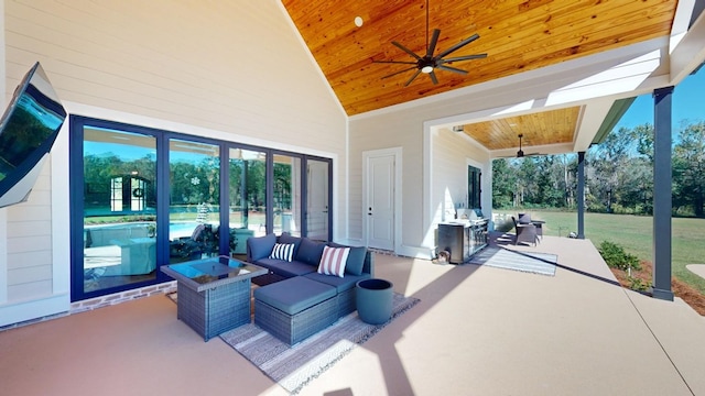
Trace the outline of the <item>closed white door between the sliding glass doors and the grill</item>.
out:
M 393 153 L 366 153 L 366 183 L 364 216 L 367 245 L 394 250 L 394 185 L 395 156 Z

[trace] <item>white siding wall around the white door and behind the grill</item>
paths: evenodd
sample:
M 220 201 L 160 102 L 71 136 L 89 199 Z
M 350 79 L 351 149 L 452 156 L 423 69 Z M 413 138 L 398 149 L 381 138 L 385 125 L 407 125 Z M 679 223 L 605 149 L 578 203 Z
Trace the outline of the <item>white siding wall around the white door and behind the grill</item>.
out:
M 366 117 L 354 117 L 349 123 L 349 239 L 350 243 L 362 243 L 365 241 L 362 218 L 364 197 L 362 184 L 365 179 L 362 153 L 371 150 L 400 147 L 403 156 L 402 169 L 402 208 L 398 209 L 397 216 L 402 218 L 402 241 L 401 249 L 397 253 L 430 258 L 435 249 L 435 227 L 429 220 L 424 220 L 430 208 L 442 206 L 441 194 L 436 194 L 436 188 L 452 188 L 460 191 L 466 188 L 467 160 L 470 158 L 477 164 L 485 164 L 487 169 L 489 155 L 477 148 L 469 140 L 460 136 L 448 136 L 445 140 L 437 139 L 435 132 L 429 130 L 427 124 L 436 119 L 438 113 L 460 113 L 467 107 L 452 105 L 453 108 L 438 109 L 430 107 L 427 109 L 412 108 L 400 109 L 390 112 L 381 112 Z M 447 132 L 447 131 L 446 131 Z M 452 132 L 447 132 L 452 133 Z M 425 134 L 431 134 L 431 139 L 425 139 Z M 426 153 L 425 151 L 430 151 Z M 424 156 L 430 155 L 431 160 L 424 163 Z M 456 167 L 457 165 L 457 167 Z M 436 169 L 435 167 L 438 167 Z M 453 176 L 441 177 L 440 182 L 434 182 L 436 175 L 453 168 Z M 490 169 L 491 170 L 491 169 Z M 430 177 L 424 173 L 430 172 Z M 485 173 L 485 170 L 484 170 Z M 463 176 L 464 175 L 464 176 Z M 484 185 L 482 190 L 487 193 L 482 201 L 491 208 L 491 182 Z M 424 180 L 424 177 L 426 178 Z M 431 183 L 431 185 L 426 185 Z M 489 187 L 488 187 L 489 186 Z M 426 195 L 431 193 L 431 200 Z M 459 195 L 459 193 L 457 193 Z M 464 198 L 457 197 L 458 199 Z M 435 210 L 435 209 L 434 209 Z M 488 213 L 486 213 L 488 215 Z

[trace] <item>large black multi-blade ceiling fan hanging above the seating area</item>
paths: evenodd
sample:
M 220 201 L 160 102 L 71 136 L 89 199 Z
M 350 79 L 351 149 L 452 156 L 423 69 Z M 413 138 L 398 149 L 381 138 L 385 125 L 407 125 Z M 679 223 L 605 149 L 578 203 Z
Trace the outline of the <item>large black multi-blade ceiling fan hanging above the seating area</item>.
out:
M 456 67 L 451 67 L 447 66 L 446 64 L 452 64 L 454 62 L 463 62 L 463 61 L 471 61 L 471 59 L 480 59 L 480 58 L 485 58 L 487 57 L 487 54 L 475 54 L 475 55 L 465 55 L 465 56 L 457 56 L 457 57 L 452 57 L 452 58 L 445 58 L 446 55 L 449 55 L 454 52 L 456 52 L 457 50 L 460 50 L 462 47 L 466 46 L 467 44 L 476 41 L 477 38 L 479 38 L 480 36 L 478 34 L 473 34 L 471 36 L 463 40 L 462 42 L 455 44 L 454 46 L 442 51 L 441 53 L 438 53 L 437 55 L 433 55 L 433 53 L 436 50 L 436 43 L 438 42 L 438 35 L 441 35 L 441 30 L 440 29 L 434 29 L 433 30 L 433 35 L 431 37 L 431 43 L 429 43 L 429 0 L 426 0 L 426 54 L 423 56 L 416 55 L 413 51 L 406 48 L 405 46 L 403 46 L 402 44 L 393 41 L 392 44 L 398 46 L 401 51 L 405 52 L 406 54 L 411 55 L 414 59 L 416 59 L 415 62 L 403 62 L 403 61 L 372 61 L 372 63 L 389 63 L 389 64 L 402 64 L 402 65 L 414 65 L 413 67 L 403 69 L 403 70 L 399 70 L 395 73 L 392 73 L 390 75 L 387 75 L 382 78 L 389 78 L 392 76 L 395 76 L 398 74 L 404 73 L 404 72 L 409 72 L 409 70 L 413 70 L 416 69 L 416 73 L 414 73 L 413 76 L 411 76 L 411 78 L 406 81 L 406 84 L 404 84 L 404 87 L 409 86 L 411 84 L 411 81 L 413 81 L 419 74 L 423 73 L 423 74 L 427 74 L 429 77 L 431 77 L 431 80 L 433 81 L 433 84 L 438 84 L 438 79 L 436 78 L 435 75 L 435 69 L 440 69 L 440 70 L 446 70 L 446 72 L 452 72 L 452 73 L 457 73 L 457 74 L 462 74 L 465 75 L 467 74 L 466 70 L 456 68 Z

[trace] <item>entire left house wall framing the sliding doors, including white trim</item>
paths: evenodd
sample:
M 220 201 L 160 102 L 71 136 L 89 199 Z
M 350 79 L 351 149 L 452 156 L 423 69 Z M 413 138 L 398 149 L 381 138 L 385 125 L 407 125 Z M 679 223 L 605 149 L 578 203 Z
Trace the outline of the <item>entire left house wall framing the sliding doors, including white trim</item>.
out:
M 70 114 L 330 157 L 344 237 L 347 117 L 279 1 L 2 10 L 6 102 L 39 61 Z M 0 209 L 0 326 L 68 310 L 67 142 L 65 124 L 30 201 Z

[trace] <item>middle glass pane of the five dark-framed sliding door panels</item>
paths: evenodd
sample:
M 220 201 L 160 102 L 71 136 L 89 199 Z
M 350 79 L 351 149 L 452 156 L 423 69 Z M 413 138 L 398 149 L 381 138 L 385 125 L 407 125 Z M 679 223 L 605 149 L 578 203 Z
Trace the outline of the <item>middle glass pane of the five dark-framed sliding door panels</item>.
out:
M 267 233 L 267 153 L 230 148 L 228 158 L 230 246 L 246 254 L 247 239 Z

